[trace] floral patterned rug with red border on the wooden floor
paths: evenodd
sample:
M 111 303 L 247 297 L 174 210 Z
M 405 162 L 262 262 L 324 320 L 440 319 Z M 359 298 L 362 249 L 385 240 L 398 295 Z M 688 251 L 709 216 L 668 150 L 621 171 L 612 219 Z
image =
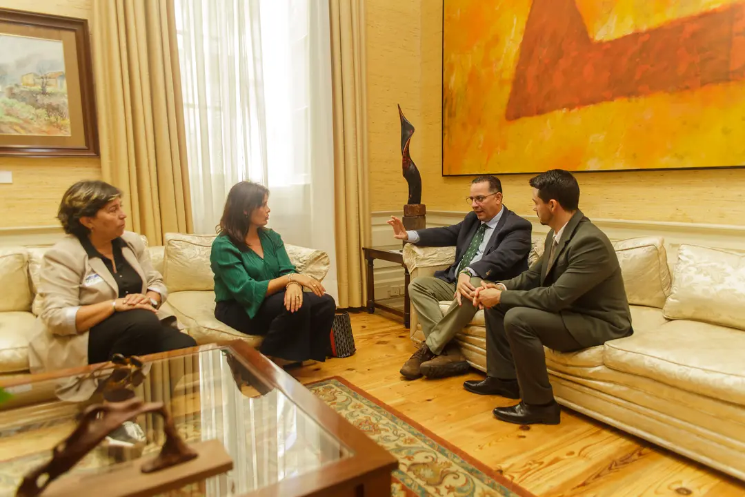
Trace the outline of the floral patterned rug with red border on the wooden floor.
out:
M 305 386 L 399 459 L 393 496 L 533 496 L 344 379 Z

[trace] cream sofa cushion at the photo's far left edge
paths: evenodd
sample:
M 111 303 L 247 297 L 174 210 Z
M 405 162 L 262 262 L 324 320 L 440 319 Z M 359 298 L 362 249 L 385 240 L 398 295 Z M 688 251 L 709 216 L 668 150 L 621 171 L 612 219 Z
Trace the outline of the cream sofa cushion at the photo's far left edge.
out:
M 28 282 L 28 251 L 0 247 L 0 312 L 31 311 L 34 295 Z

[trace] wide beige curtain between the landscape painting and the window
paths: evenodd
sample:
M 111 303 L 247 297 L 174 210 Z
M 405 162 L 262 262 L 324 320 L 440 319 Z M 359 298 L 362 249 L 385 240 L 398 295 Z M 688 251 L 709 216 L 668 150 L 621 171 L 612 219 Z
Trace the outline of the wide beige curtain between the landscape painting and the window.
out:
M 192 231 L 172 0 L 93 6 L 104 180 L 124 191 L 128 228 L 159 245 Z

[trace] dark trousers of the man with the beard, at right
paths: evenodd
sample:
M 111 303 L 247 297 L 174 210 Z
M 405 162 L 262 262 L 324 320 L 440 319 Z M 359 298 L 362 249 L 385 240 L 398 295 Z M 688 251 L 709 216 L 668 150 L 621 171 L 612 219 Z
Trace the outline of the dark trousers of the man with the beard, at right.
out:
M 558 352 L 583 349 L 560 314 L 527 307 L 495 306 L 486 312 L 486 374 L 517 379 L 526 404 L 548 404 L 554 390 L 548 382 L 543 346 Z

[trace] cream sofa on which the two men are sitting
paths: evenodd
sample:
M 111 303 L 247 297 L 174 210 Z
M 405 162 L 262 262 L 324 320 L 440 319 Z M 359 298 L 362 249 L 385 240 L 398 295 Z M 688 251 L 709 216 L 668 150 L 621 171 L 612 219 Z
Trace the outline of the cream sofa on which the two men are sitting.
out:
M 542 247 L 536 239 L 531 263 Z M 546 349 L 557 401 L 745 480 L 745 255 L 683 244 L 668 265 L 662 238 L 614 247 L 634 334 L 580 352 Z M 453 259 L 453 247 L 404 248 L 412 278 Z M 413 308 L 411 316 L 419 345 Z M 484 312 L 456 339 L 469 363 L 485 371 Z

